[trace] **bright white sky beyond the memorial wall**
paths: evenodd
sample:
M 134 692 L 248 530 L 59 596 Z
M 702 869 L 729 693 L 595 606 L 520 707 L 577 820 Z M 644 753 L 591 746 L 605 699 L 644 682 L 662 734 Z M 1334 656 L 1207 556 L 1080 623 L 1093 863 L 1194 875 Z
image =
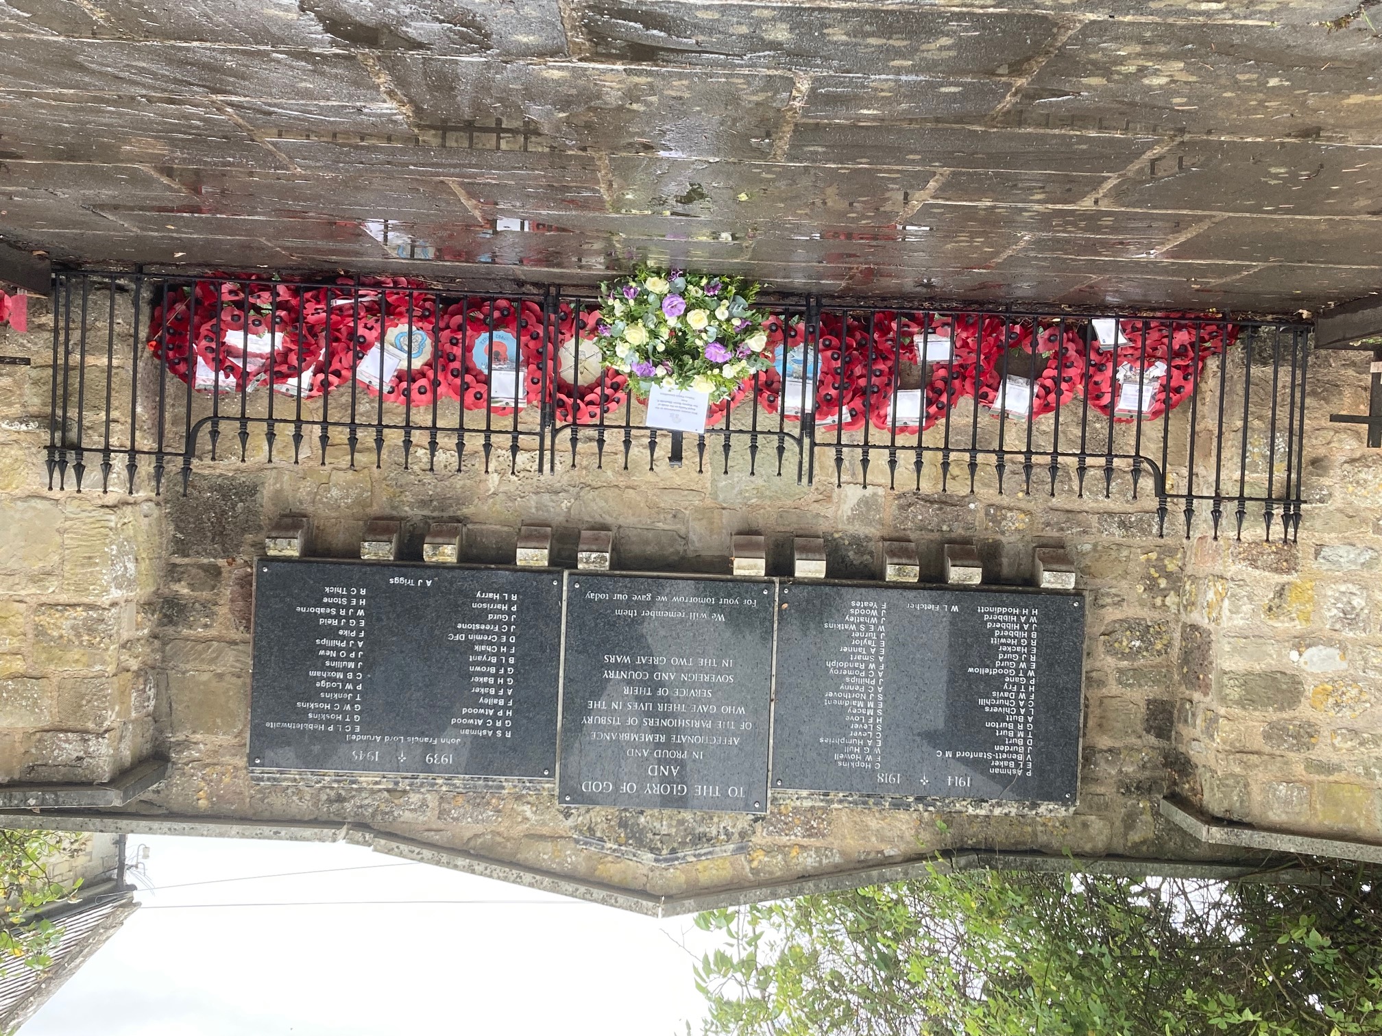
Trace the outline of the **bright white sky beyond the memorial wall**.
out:
M 699 1029 L 691 952 L 713 942 L 690 916 L 643 917 L 358 845 L 131 836 L 131 861 L 140 845 L 152 885 L 141 909 L 22 1036 Z

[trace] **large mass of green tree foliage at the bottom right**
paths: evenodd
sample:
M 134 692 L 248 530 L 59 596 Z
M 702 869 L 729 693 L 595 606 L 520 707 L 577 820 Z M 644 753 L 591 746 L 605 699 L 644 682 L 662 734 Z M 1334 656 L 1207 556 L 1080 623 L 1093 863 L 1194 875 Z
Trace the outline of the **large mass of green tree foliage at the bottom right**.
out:
M 702 913 L 720 1036 L 1382 1033 L 1382 892 L 933 866 L 926 880 Z

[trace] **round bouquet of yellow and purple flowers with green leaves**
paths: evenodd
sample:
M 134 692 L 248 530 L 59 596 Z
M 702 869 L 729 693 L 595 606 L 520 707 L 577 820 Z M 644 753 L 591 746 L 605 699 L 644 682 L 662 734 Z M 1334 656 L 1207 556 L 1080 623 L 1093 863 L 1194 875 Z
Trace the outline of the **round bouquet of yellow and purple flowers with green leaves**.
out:
M 607 366 L 647 396 L 654 385 L 709 392 L 717 403 L 773 362 L 750 308 L 759 286 L 741 278 L 640 268 L 600 286 L 596 344 Z

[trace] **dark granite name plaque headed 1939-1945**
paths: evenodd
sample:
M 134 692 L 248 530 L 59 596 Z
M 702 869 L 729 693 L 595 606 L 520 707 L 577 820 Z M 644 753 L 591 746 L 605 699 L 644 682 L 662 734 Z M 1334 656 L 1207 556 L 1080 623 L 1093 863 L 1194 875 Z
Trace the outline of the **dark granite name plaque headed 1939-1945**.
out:
M 254 565 L 250 765 L 550 778 L 561 573 Z

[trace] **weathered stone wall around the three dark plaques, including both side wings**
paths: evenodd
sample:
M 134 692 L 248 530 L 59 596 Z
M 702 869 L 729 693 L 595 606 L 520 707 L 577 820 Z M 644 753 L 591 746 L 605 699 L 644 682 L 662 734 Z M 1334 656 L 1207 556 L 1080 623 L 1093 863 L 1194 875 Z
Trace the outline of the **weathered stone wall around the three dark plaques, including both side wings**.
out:
M 100 311 L 102 303 L 94 304 Z M 127 311 L 120 319 L 127 320 Z M 0 367 L 0 775 L 94 782 L 149 754 L 167 780 L 130 812 L 245 821 L 354 822 L 419 841 L 582 880 L 658 894 L 745 887 L 920 859 L 944 848 L 1209 861 L 1234 856 L 1189 840 L 1157 815 L 1162 794 L 1266 827 L 1375 838 L 1382 713 L 1370 711 L 1382 669 L 1382 611 L 1372 570 L 1382 528 L 1382 453 L 1328 425 L 1363 407 L 1365 362 L 1312 359 L 1306 435 L 1310 504 L 1299 544 L 1242 543 L 1208 530 L 1155 535 L 1155 501 L 1061 492 L 941 493 L 929 464 L 922 492 L 822 478 L 728 475 L 694 464 L 656 474 L 589 461 L 539 475 L 444 474 L 254 454 L 199 464 L 191 492 L 176 478 L 152 499 L 50 493 L 47 443 L 51 325 L 43 307 Z M 127 332 L 127 326 L 124 327 Z M 88 363 L 100 366 L 104 356 Z M 1212 401 L 1212 384 L 1205 399 Z M 1213 407 L 1202 407 L 1201 417 Z M 453 466 L 453 456 L 449 457 Z M 90 461 L 88 461 L 90 463 Z M 847 475 L 850 472 L 846 472 Z M 857 471 L 853 472 L 857 479 Z M 1063 475 L 1070 479 L 1068 472 Z M 556 529 L 558 564 L 574 564 L 582 528 L 615 530 L 623 569 L 728 570 L 730 537 L 761 532 L 770 572 L 785 572 L 793 535 L 828 541 L 832 575 L 872 577 L 882 539 L 912 539 L 923 577 L 943 544 L 972 541 L 996 583 L 1030 577 L 1036 546 L 1066 546 L 1089 595 L 1083 767 L 1078 808 L 1064 816 L 878 808 L 808 796 L 774 800 L 763 818 L 618 814 L 557 805 L 549 793 L 471 787 L 254 785 L 246 767 L 252 568 L 282 514 L 314 518 L 312 553 L 352 557 L 370 518 L 405 521 L 420 557 L 428 521 L 466 524 L 467 561 L 513 557 L 522 522 Z M 1277 526 L 1280 529 L 1280 526 Z M 1251 535 L 1251 539 L 1249 539 Z M 1376 619 L 1374 619 L 1376 616 Z M 739 851 L 655 866 L 651 855 Z M 1238 854 L 1241 858 L 1242 854 Z

